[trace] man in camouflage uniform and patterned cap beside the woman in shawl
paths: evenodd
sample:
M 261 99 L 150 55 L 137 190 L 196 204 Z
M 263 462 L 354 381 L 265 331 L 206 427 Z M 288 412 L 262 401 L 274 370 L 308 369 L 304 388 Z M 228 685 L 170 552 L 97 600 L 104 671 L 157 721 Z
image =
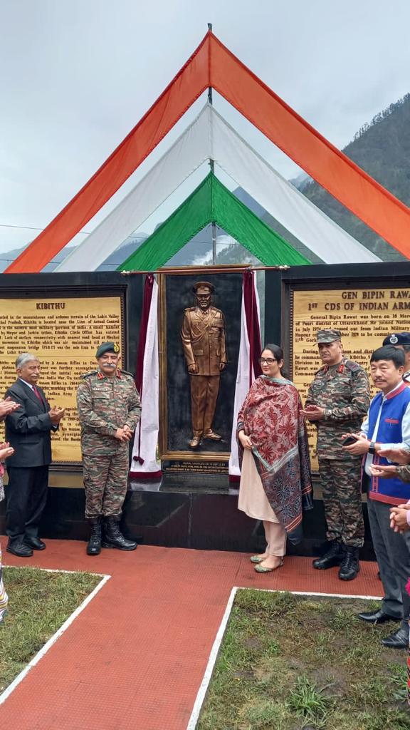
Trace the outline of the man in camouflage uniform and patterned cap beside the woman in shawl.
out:
M 328 551 L 314 568 L 340 565 L 339 578 L 359 572 L 364 525 L 360 490 L 361 458 L 343 448 L 342 434 L 360 431 L 370 404 L 370 386 L 363 367 L 344 357 L 337 329 L 321 329 L 317 345 L 323 366 L 314 376 L 306 399 L 306 418 L 317 426 L 317 456 L 327 523 Z

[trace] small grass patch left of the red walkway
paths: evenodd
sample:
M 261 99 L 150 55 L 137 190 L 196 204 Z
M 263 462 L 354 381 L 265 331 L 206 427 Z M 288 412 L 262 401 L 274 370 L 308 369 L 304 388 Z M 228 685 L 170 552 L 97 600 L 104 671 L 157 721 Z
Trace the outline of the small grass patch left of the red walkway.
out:
M 3 567 L 9 612 L 0 624 L 0 692 L 21 672 L 101 577 Z

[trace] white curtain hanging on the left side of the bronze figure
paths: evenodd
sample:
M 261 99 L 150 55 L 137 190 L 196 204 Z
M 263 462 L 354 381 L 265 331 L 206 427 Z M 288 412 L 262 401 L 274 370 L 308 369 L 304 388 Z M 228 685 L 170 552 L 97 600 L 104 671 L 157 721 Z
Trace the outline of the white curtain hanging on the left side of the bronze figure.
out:
M 159 431 L 159 362 L 158 362 L 158 284 L 154 281 L 150 315 L 148 316 L 147 338 L 144 350 L 144 370 L 142 373 L 141 420 L 136 427 L 134 447 L 131 458 L 131 475 L 152 474 L 159 472 L 161 465 L 157 461 L 157 444 Z M 139 431 L 141 444 L 138 454 Z M 141 456 L 144 464 L 134 461 L 134 456 Z

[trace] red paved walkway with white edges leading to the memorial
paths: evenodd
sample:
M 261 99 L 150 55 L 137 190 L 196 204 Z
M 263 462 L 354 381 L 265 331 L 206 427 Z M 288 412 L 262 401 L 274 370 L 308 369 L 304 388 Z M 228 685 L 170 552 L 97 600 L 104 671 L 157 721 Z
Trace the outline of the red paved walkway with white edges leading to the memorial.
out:
M 233 585 L 362 595 L 381 588 L 374 563 L 343 583 L 336 568 L 315 571 L 309 558 L 257 575 L 241 553 L 139 546 L 89 558 L 83 542 L 48 540 L 28 561 L 3 554 L 12 565 L 112 575 L 0 705 L 0 727 L 10 730 L 185 730 Z

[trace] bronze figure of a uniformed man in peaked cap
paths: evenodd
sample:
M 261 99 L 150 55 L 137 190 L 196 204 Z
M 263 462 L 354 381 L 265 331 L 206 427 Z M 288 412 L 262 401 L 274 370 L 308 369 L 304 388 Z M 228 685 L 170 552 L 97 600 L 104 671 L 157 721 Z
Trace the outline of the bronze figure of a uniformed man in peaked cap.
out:
M 184 312 L 181 328 L 187 369 L 190 374 L 190 396 L 193 437 L 188 442 L 198 448 L 201 437 L 220 441 L 212 429 L 220 374 L 226 367 L 225 318 L 212 307 L 214 287 L 207 281 L 193 285 L 196 306 Z

